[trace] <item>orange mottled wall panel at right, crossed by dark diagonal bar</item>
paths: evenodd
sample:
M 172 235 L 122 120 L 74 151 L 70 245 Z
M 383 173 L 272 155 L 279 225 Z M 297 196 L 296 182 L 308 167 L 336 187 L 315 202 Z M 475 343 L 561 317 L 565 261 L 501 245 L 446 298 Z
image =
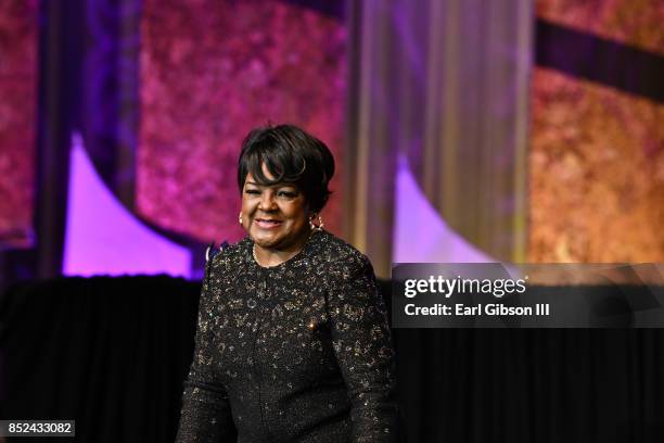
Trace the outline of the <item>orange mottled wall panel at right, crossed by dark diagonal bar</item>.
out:
M 662 2 L 537 8 L 549 22 L 664 56 Z M 664 261 L 664 104 L 537 68 L 532 112 L 529 260 Z

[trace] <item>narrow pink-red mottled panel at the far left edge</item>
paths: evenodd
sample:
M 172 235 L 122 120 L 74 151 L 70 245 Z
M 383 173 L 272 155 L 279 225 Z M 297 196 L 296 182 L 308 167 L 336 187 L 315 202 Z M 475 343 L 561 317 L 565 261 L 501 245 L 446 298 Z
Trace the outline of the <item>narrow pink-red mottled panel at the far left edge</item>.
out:
M 0 243 L 33 226 L 37 1 L 0 1 Z

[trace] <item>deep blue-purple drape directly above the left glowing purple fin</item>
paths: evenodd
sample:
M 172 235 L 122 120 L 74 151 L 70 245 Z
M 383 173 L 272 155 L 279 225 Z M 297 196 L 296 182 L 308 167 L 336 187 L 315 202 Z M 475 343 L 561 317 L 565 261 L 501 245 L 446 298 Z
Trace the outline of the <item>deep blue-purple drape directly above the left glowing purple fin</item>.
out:
M 130 211 L 136 191 L 142 0 L 86 0 L 80 130 L 98 174 Z

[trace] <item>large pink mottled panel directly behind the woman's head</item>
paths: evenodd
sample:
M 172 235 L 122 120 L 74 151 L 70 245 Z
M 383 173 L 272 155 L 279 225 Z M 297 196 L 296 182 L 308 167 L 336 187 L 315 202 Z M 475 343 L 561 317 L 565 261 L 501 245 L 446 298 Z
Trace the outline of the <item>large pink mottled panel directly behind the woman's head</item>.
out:
M 323 212 L 341 227 L 346 87 L 342 21 L 270 0 L 145 0 L 137 210 L 203 241 L 238 240 L 240 143 L 259 125 L 294 123 L 337 163 Z

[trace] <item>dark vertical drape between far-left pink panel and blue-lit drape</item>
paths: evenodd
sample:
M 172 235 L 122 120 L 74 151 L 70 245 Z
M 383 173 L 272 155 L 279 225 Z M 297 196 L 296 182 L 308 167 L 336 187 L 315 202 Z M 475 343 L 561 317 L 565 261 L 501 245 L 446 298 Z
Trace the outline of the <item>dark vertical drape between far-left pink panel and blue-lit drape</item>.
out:
M 81 9 L 79 0 L 39 3 L 34 275 L 41 278 L 62 268 L 69 144 L 80 109 Z

